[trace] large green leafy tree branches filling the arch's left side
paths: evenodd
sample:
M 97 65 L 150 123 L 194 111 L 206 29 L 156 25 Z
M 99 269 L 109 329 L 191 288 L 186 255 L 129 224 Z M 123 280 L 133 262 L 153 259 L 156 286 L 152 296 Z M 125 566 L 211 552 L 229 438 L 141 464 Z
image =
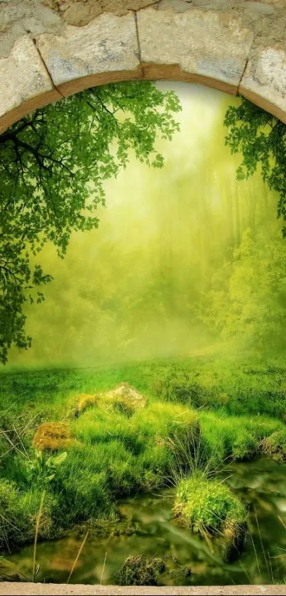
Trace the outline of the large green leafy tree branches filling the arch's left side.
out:
M 98 226 L 104 180 L 126 168 L 129 149 L 162 167 L 155 140 L 172 139 L 180 109 L 175 93 L 153 82 L 106 85 L 38 109 L 0 136 L 1 362 L 12 345 L 31 346 L 24 305 L 44 300 L 51 281 L 31 255 L 53 242 L 63 258 L 73 231 Z

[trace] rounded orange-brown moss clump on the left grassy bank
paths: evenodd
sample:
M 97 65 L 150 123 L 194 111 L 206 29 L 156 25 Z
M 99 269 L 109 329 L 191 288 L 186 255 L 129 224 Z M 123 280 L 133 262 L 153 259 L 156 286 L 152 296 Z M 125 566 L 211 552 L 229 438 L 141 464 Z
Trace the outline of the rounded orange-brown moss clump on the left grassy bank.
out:
M 33 438 L 33 447 L 39 451 L 57 451 L 69 449 L 75 440 L 67 424 L 62 422 L 44 422 L 38 426 Z

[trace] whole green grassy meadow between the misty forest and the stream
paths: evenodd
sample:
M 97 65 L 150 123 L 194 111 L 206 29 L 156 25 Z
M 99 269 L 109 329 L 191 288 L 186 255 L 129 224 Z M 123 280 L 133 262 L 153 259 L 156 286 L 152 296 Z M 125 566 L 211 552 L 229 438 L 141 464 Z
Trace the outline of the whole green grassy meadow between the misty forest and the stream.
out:
M 53 538 L 86 521 L 104 527 L 117 498 L 174 484 L 193 466 L 285 460 L 285 373 L 283 362 L 211 359 L 2 372 L 1 548 L 33 540 L 43 491 L 39 538 Z M 123 381 L 147 406 L 102 399 L 78 411 L 82 394 Z M 55 442 L 45 445 L 47 432 Z

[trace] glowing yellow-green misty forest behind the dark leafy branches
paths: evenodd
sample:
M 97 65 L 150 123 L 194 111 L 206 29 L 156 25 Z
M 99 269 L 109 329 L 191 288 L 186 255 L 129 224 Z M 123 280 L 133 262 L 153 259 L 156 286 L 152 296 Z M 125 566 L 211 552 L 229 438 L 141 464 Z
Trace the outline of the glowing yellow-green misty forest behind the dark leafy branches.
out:
M 105 183 L 99 229 L 52 244 L 45 302 L 26 303 L 31 350 L 10 365 L 79 365 L 153 357 L 285 351 L 286 241 L 277 195 L 260 173 L 236 180 L 224 115 L 239 99 L 185 84 L 161 169 L 131 156 Z

